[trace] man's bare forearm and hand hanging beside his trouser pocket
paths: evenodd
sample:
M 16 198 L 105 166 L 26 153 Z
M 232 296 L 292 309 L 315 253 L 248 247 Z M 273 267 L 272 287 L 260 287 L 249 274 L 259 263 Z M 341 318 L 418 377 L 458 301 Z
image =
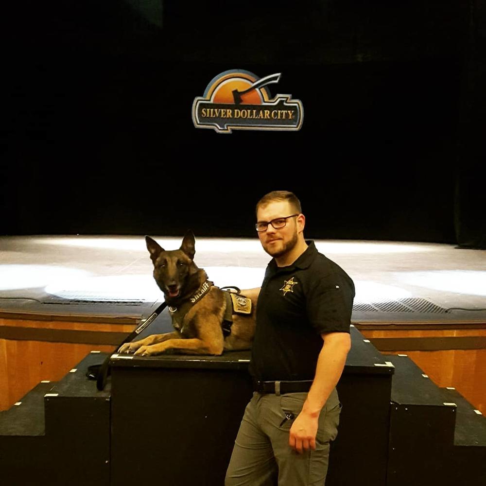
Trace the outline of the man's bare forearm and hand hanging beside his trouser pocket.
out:
M 321 334 L 321 337 L 324 343 L 311 389 L 290 429 L 289 444 L 299 453 L 315 449 L 319 414 L 341 378 L 347 353 L 351 349 L 351 337 L 347 332 L 328 332 Z

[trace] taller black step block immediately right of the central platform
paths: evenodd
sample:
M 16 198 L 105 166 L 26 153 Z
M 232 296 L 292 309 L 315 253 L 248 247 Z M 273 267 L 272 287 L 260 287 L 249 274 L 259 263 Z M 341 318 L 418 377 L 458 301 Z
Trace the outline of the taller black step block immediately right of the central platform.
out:
M 407 356 L 383 355 L 383 359 L 395 366 L 387 486 L 452 485 L 457 407 Z

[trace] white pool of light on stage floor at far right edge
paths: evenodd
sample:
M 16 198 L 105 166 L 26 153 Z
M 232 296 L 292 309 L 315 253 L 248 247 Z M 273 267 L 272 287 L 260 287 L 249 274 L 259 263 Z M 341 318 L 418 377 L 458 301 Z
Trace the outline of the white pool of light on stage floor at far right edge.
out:
M 485 295 L 486 271 L 484 270 L 429 270 L 394 274 L 407 284 L 455 294 Z

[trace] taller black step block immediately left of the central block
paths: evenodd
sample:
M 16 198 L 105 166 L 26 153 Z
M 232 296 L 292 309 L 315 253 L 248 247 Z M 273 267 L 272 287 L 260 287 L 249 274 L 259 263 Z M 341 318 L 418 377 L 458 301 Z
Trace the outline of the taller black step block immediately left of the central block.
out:
M 50 484 L 109 485 L 110 383 L 98 391 L 88 366 L 106 353 L 91 352 L 45 396 L 46 434 L 56 457 Z

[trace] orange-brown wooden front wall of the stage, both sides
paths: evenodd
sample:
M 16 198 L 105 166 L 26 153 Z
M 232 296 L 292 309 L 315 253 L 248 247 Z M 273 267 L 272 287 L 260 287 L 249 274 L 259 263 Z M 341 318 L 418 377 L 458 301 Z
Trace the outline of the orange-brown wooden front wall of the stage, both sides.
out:
M 0 410 L 10 408 L 38 382 L 60 380 L 90 351 L 113 351 L 136 324 L 0 318 Z M 407 354 L 435 384 L 456 388 L 486 415 L 484 327 L 453 330 L 356 327 L 380 351 Z

